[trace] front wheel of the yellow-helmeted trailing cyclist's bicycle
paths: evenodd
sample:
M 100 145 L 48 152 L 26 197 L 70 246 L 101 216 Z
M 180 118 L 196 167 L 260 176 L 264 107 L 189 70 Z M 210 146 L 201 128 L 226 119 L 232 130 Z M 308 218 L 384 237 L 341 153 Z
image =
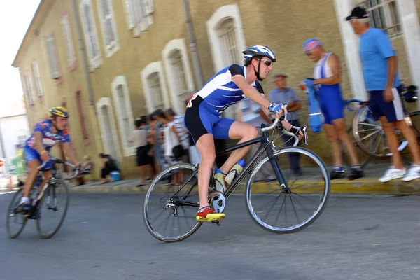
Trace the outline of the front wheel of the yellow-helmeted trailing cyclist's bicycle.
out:
M 48 239 L 61 228 L 69 208 L 69 186 L 63 180 L 50 183 L 36 209 L 38 235 Z

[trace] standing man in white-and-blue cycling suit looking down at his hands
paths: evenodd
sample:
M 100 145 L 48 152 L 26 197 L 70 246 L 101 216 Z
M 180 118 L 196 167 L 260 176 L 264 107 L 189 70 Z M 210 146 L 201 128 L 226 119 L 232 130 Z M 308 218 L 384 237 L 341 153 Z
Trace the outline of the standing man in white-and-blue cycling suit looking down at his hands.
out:
M 323 128 L 327 134 L 328 141 L 332 146 L 334 155 L 334 167 L 330 173 L 331 179 L 344 178 L 344 166 L 341 151 L 341 142 L 346 146 L 351 158 L 352 167 L 347 176 L 349 180 L 365 176 L 356 154 L 356 149 L 351 143 L 349 134 L 346 132 L 344 122 L 344 100 L 342 99 L 341 87 L 341 65 L 339 57 L 332 52 L 325 52 L 322 43 L 311 38 L 304 42 L 303 50 L 313 62 L 314 68 L 313 84 L 316 87 L 321 112 L 324 117 Z

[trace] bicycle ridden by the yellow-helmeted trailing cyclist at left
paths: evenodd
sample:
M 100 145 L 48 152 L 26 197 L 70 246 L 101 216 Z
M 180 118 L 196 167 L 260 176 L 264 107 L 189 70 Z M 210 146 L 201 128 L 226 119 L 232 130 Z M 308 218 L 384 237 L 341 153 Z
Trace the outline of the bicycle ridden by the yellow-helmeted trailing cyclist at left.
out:
M 20 235 L 29 219 L 36 220 L 36 228 L 38 234 L 42 238 L 50 238 L 61 228 L 64 218 L 66 217 L 67 209 L 69 207 L 69 186 L 64 180 L 71 180 L 78 175 L 76 166 L 69 162 L 60 160 L 50 156 L 53 165 L 51 169 L 51 176 L 45 186 L 32 188 L 31 190 L 31 210 L 29 212 L 22 212 L 18 209 L 20 199 L 23 195 L 23 187 L 15 193 L 12 201 L 9 204 L 6 216 L 6 231 L 8 237 L 16 238 Z M 41 169 L 43 165 L 38 167 Z M 72 167 L 73 175 L 63 178 L 57 165 L 63 164 Z M 37 182 L 41 183 L 42 171 L 38 174 Z

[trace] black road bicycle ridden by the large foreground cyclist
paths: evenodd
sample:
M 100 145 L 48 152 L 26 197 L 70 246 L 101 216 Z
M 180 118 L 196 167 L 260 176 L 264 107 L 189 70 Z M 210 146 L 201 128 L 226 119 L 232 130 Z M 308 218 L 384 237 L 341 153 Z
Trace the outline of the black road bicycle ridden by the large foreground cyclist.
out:
M 285 133 L 299 141 L 301 131 L 306 141 L 307 127 L 293 127 L 293 132 L 284 130 L 276 119 L 269 127 L 262 126 L 262 136 L 230 148 L 218 151 L 224 155 L 248 145 L 260 143 L 244 170 L 232 181 L 225 193 L 216 190 L 213 173 L 209 185 L 209 204 L 217 212 L 222 212 L 226 200 L 248 177 L 245 199 L 248 212 L 260 227 L 275 233 L 291 233 L 314 223 L 328 202 L 330 195 L 330 175 L 325 163 L 314 152 L 297 146 L 278 149 L 274 141 Z M 276 127 L 276 139 L 270 141 L 268 130 Z M 272 137 L 273 138 L 273 137 Z M 265 153 L 265 156 L 263 155 Z M 300 156 L 302 176 L 290 169 L 288 159 L 291 153 Z M 276 181 L 254 183 L 255 175 L 266 162 L 274 169 Z M 144 201 L 144 223 L 153 237 L 166 242 L 181 241 L 193 235 L 202 223 L 195 214 L 200 207 L 197 186 L 198 165 L 179 163 L 161 172 L 151 184 Z M 251 173 L 251 176 L 248 174 Z M 176 178 L 176 181 L 174 181 Z M 168 183 L 168 179 L 172 180 Z M 216 222 L 220 225 L 220 222 Z

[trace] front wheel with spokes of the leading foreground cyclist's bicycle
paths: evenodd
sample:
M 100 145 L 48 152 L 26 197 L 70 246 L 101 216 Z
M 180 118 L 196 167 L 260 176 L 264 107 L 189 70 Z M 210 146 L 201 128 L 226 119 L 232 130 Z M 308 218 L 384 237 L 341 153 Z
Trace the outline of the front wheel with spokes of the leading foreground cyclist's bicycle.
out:
M 275 233 L 306 228 L 321 215 L 330 196 L 331 181 L 321 158 L 306 148 L 287 147 L 274 153 L 287 186 L 279 181 L 253 183 L 260 169 L 271 168 L 266 156 L 251 174 L 246 186 L 246 206 L 260 227 Z M 302 173 L 290 168 L 290 158 L 300 161 Z M 267 163 L 267 165 L 265 165 Z

